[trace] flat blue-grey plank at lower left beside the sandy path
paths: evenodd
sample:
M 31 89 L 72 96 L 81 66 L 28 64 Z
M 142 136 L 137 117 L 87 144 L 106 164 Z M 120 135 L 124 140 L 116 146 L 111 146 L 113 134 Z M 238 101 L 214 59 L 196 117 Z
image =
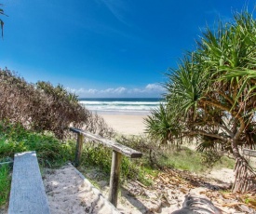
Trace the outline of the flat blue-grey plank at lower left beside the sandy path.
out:
M 35 152 L 15 154 L 8 214 L 49 214 Z

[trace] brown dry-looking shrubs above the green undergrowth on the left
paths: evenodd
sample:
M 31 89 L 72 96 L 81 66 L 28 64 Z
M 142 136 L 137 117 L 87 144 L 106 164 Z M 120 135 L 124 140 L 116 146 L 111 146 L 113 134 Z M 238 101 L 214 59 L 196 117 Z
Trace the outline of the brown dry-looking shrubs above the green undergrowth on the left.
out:
M 58 85 L 48 82 L 36 84 L 26 82 L 18 74 L 0 69 L 0 121 L 8 124 L 20 124 L 34 131 L 50 131 L 63 139 L 68 127 L 86 127 L 100 136 L 112 134 L 97 114 L 91 114 L 79 104 L 76 95 Z M 4 123 L 4 124 L 5 124 Z

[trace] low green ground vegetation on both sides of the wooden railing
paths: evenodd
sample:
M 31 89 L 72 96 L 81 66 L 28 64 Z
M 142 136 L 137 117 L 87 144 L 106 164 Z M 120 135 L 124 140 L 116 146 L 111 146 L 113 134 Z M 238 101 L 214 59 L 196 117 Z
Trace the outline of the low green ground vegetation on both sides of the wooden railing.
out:
M 116 136 L 115 140 L 143 153 L 141 159 L 123 157 L 121 165 L 122 181 L 140 181 L 149 186 L 152 180 L 147 175 L 157 176 L 162 170 L 176 168 L 190 172 L 205 172 L 209 166 L 203 161 L 203 156 L 193 150 L 181 147 L 180 151 L 170 148 L 160 149 L 144 137 Z M 62 167 L 67 162 L 74 161 L 76 140 L 66 138 L 59 140 L 52 132 L 38 132 L 22 127 L 20 124 L 0 124 L 0 162 L 13 158 L 15 153 L 36 151 L 38 162 L 43 167 Z M 193 158 L 193 161 L 191 161 Z M 111 169 L 112 151 L 105 147 L 87 141 L 82 153 L 79 170 L 86 172 L 94 167 L 104 174 L 108 181 Z M 233 167 L 234 163 L 223 159 L 213 167 L 223 165 Z M 0 167 L 0 206 L 7 204 L 10 190 L 10 168 Z M 2 185 L 1 185 L 2 184 Z M 1 189 L 2 188 L 2 189 Z

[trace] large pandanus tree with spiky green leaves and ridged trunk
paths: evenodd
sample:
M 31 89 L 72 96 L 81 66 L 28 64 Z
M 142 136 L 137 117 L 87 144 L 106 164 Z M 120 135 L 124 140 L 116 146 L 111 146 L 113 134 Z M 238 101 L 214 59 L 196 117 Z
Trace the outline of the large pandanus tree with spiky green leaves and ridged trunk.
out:
M 247 11 L 236 13 L 196 44 L 167 74 L 168 114 L 182 125 L 182 136 L 200 140 L 199 150 L 233 154 L 234 192 L 255 189 L 255 172 L 241 149 L 256 145 L 256 21 Z

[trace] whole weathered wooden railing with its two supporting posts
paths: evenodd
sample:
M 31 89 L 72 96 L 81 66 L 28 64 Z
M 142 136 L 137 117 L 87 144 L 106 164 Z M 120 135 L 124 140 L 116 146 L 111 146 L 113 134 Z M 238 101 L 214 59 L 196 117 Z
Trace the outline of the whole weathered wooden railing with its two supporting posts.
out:
M 113 140 L 103 139 L 100 136 L 91 134 L 79 128 L 70 127 L 70 130 L 77 134 L 76 152 L 74 158 L 75 167 L 78 167 L 80 164 L 84 137 L 98 141 L 105 147 L 108 147 L 113 150 L 110 175 L 110 192 L 108 199 L 116 207 L 122 155 L 126 155 L 130 158 L 140 158 L 142 156 L 141 152 L 133 150 Z

